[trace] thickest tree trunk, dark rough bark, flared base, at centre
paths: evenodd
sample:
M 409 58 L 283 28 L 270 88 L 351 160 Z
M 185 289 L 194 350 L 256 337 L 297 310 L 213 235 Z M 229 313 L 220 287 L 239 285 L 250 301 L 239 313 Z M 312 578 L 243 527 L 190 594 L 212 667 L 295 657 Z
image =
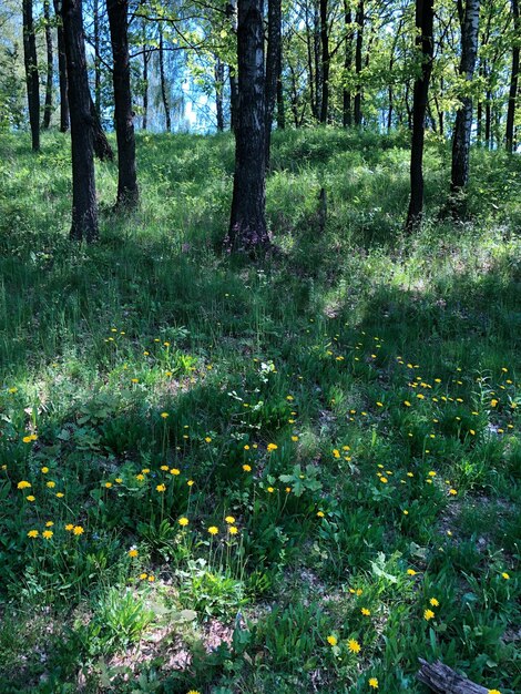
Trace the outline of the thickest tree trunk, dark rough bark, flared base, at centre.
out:
M 257 255 L 270 245 L 265 220 L 263 0 L 238 0 L 238 119 L 227 251 Z

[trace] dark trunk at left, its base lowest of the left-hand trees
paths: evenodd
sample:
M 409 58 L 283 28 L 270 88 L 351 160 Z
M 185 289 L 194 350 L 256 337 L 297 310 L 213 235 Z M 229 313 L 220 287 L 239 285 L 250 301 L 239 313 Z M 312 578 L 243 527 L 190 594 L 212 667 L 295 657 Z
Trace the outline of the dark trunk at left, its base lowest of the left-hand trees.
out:
M 81 0 L 63 0 L 63 35 L 67 54 L 72 145 L 71 238 L 98 238 L 98 206 L 93 159 L 92 99 L 89 90 Z

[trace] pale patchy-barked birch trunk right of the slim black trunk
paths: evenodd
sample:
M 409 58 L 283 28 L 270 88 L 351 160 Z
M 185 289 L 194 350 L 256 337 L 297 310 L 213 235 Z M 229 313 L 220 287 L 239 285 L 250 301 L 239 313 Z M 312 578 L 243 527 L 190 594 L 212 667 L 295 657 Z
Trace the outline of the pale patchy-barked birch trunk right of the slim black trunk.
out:
M 464 76 L 466 85 L 472 81 L 478 54 L 478 25 L 480 0 L 467 0 L 463 22 L 461 25 L 461 60 L 459 73 Z M 462 106 L 456 114 L 452 133 L 452 170 L 450 191 L 452 211 L 459 216 L 462 213 L 463 194 L 469 181 L 470 131 L 472 127 L 472 98 L 464 93 Z

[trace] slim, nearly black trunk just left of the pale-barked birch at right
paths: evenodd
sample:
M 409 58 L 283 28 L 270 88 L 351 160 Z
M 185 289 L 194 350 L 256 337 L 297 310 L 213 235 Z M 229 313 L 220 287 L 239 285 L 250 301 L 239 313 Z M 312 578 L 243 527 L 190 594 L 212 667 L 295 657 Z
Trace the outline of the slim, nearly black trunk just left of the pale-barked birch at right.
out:
M 410 150 L 410 203 L 407 231 L 421 224 L 423 213 L 423 140 L 429 81 L 432 72 L 435 43 L 432 39 L 433 0 L 416 0 L 416 44 L 421 50 L 421 75 L 415 80 L 412 101 L 412 141 Z

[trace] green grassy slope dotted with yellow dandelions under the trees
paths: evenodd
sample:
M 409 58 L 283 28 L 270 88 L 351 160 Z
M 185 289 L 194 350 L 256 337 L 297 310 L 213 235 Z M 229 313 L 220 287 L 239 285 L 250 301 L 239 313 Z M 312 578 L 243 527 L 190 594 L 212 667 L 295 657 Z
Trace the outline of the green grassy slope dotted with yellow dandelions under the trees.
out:
M 454 224 L 430 142 L 407 237 L 403 136 L 276 133 L 251 265 L 228 135 L 141 135 L 130 217 L 99 166 L 89 248 L 68 141 L 0 151 L 0 692 L 519 691 L 519 159 Z

